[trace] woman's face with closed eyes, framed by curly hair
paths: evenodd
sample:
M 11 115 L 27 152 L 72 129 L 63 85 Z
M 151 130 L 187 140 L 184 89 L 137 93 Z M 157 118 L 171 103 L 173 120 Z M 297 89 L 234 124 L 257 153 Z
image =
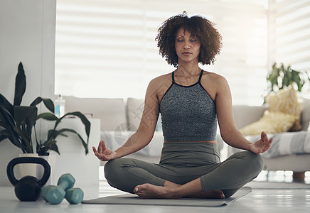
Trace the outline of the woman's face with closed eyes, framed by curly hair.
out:
M 189 31 L 179 28 L 176 31 L 176 55 L 178 55 L 178 63 L 180 62 L 197 62 L 201 50 L 201 42 Z

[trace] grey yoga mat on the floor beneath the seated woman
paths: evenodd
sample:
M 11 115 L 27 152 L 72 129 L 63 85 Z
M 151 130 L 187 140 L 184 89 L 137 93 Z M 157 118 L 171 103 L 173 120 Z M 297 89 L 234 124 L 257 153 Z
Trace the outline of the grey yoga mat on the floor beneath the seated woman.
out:
M 235 202 L 240 197 L 250 193 L 250 187 L 242 187 L 232 197 L 225 199 L 141 199 L 137 195 L 125 194 L 108 197 L 100 197 L 93 200 L 84 200 L 83 204 L 130 204 L 130 205 L 164 205 L 164 206 L 187 206 L 187 207 L 222 207 Z

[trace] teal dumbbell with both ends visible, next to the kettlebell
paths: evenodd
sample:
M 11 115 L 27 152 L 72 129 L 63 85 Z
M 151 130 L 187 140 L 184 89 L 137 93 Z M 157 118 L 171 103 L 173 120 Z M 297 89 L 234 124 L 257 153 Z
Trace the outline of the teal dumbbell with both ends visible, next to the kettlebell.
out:
M 71 189 L 75 183 L 75 178 L 71 174 L 60 176 L 57 186 L 47 186 L 42 189 L 42 197 L 50 204 L 60 204 L 65 198 L 65 191 Z

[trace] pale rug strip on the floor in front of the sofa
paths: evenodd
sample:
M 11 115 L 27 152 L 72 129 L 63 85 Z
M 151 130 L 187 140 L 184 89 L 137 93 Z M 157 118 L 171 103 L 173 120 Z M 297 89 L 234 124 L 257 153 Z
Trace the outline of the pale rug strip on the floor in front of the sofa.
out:
M 251 187 L 253 190 L 310 190 L 310 184 L 301 182 L 252 181 L 245 186 Z

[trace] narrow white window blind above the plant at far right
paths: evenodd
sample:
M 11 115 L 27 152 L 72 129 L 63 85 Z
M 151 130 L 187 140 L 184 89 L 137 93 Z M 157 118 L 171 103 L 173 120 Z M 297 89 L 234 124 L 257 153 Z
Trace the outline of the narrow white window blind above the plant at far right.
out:
M 309 11 L 309 0 L 269 1 L 269 64 L 284 63 L 310 71 Z

